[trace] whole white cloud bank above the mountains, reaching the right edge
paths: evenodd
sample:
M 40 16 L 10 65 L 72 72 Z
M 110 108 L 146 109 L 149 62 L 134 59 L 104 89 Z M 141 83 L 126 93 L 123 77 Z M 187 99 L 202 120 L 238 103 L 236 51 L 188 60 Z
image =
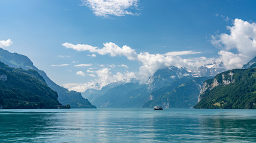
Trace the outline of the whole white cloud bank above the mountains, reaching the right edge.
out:
M 131 79 L 137 78 L 141 83 L 146 83 L 147 79 L 159 69 L 169 66 L 185 67 L 188 70 L 197 70 L 198 67 L 204 64 L 216 62 L 223 62 L 225 68 L 235 69 L 241 68 L 243 64 L 256 56 L 256 24 L 249 23 L 240 19 L 233 21 L 233 26 L 228 26 L 230 34 L 222 33 L 221 35 L 212 36 L 211 43 L 220 49 L 218 57 L 206 58 L 181 58 L 179 55 L 200 54 L 197 51 L 174 51 L 165 54 L 150 54 L 149 52 L 135 52 L 135 49 L 127 45 L 119 47 L 115 43 L 104 43 L 103 48 L 98 48 L 91 45 L 73 45 L 72 43 L 63 43 L 66 48 L 71 48 L 76 51 L 89 51 L 98 53 L 100 55 L 110 55 L 110 57 L 127 57 L 128 60 L 137 61 L 140 64 L 137 73 L 116 73 L 112 74 L 110 69 L 103 68 L 98 71 L 88 70 L 88 73 L 97 77 L 94 82 L 83 84 L 74 83 L 66 84 L 65 87 L 70 90 L 83 92 L 89 88 L 97 88 L 113 83 L 113 82 L 128 82 Z M 104 67 L 104 66 L 102 66 Z M 110 66 L 113 68 L 113 66 Z M 128 67 L 125 64 L 118 65 L 118 67 Z M 93 76 L 92 75 L 92 76 Z

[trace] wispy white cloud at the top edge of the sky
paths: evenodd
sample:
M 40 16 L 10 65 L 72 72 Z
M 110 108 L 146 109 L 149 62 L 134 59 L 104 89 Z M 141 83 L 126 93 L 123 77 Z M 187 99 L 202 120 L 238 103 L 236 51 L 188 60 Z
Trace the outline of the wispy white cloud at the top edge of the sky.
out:
M 139 0 L 82 0 L 82 5 L 91 8 L 97 16 L 109 17 L 115 15 L 120 17 L 137 15 L 137 13 L 132 13 L 130 9 L 137 8 L 138 2 Z

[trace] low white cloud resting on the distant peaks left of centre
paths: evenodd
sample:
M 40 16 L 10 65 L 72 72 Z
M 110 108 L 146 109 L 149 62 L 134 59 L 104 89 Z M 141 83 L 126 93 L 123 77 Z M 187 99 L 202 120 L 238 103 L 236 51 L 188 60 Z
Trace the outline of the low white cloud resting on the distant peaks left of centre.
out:
M 89 74 L 89 76 L 97 77 L 93 82 L 87 83 L 67 83 L 64 84 L 64 88 L 67 88 L 71 91 L 85 92 L 86 89 L 101 89 L 103 86 L 108 85 L 109 83 L 122 82 L 127 83 L 131 82 L 131 79 L 137 78 L 133 72 L 125 73 L 116 73 L 113 74 L 111 69 L 103 68 L 101 70 L 95 71 L 95 74 Z

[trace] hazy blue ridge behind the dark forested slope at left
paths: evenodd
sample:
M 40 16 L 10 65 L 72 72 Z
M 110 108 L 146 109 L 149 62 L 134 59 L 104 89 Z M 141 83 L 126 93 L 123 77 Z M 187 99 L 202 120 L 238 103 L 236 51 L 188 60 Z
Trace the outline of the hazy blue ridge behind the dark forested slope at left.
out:
M 68 91 L 68 89 L 62 88 L 61 86 L 54 83 L 49 79 L 43 70 L 37 69 L 32 61 L 25 55 L 20 55 L 17 53 L 10 53 L 7 50 L 0 48 L 0 61 L 7 64 L 10 67 L 22 68 L 22 69 L 32 69 L 38 71 L 38 73 L 43 76 L 47 85 L 56 91 L 59 95 L 59 102 L 61 104 L 70 104 L 71 108 L 96 108 L 87 99 L 83 98 L 79 92 Z

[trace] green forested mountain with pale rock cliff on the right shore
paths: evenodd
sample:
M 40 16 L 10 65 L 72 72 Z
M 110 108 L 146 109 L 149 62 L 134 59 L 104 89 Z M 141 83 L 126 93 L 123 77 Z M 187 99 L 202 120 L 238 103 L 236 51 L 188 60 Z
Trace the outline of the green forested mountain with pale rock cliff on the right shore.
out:
M 256 68 L 234 69 L 203 83 L 194 108 L 256 108 Z

